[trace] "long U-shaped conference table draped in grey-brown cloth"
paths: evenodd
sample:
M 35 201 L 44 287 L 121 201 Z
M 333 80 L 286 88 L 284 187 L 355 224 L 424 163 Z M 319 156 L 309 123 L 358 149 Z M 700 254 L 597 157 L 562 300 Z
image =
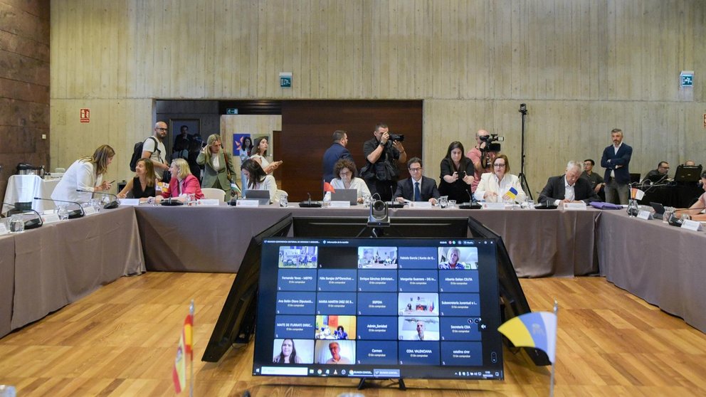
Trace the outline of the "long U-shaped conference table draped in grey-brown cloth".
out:
M 360 216 L 364 208 L 123 206 L 0 236 L 0 337 L 146 270 L 237 272 L 251 237 L 288 213 Z M 606 276 L 706 332 L 706 233 L 625 211 L 391 209 L 393 217 L 473 216 L 502 235 L 520 277 Z

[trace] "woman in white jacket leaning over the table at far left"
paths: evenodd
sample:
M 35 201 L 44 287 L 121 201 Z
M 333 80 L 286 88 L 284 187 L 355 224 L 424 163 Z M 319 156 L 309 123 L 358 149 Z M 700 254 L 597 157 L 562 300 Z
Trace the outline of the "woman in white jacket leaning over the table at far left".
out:
M 115 150 L 107 144 L 100 145 L 93 156 L 76 160 L 64 173 L 51 194 L 53 200 L 87 203 L 94 191 L 107 191 L 112 182 L 103 181 L 103 175 L 115 156 Z M 77 191 L 83 190 L 83 191 Z

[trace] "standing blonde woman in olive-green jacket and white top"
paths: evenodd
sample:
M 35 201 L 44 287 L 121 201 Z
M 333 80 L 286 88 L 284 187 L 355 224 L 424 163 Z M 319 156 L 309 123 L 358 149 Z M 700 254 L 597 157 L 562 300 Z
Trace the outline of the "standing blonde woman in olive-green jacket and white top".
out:
M 204 166 L 201 187 L 221 189 L 230 193 L 236 170 L 233 168 L 233 154 L 228 154 L 222 145 L 221 136 L 211 134 L 206 140 L 206 147 L 201 149 L 199 157 L 196 157 L 196 163 Z

